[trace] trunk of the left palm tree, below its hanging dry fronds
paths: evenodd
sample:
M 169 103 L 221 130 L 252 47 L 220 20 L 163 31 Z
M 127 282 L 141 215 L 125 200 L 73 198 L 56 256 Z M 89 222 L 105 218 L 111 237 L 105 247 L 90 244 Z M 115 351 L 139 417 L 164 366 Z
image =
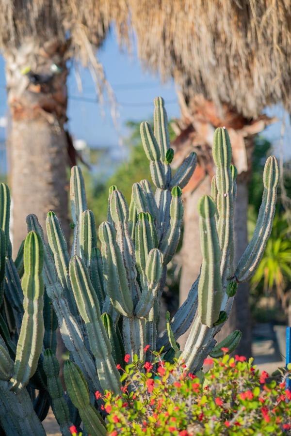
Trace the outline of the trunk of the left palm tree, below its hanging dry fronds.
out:
M 65 49 L 56 39 L 40 44 L 31 38 L 5 53 L 14 253 L 27 233 L 28 214 L 44 225 L 54 210 L 68 234 Z

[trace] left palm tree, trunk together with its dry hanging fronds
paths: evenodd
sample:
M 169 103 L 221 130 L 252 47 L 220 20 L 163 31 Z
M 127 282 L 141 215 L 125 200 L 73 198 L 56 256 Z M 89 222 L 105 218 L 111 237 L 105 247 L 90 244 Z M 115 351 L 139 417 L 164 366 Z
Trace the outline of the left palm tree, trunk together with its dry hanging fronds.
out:
M 97 92 L 110 87 L 96 58 L 112 19 L 117 33 L 122 10 L 115 1 L 4 0 L 0 50 L 6 61 L 13 245 L 26 234 L 25 218 L 42 223 L 54 209 L 68 233 L 67 177 L 72 141 L 67 121 L 68 61 L 88 65 Z

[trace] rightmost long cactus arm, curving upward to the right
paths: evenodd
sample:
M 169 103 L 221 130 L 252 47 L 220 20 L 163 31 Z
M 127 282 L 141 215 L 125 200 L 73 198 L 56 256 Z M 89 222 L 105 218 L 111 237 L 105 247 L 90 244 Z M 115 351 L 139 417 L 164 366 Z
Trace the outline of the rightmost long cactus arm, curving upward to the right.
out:
M 255 273 L 271 234 L 279 182 L 279 169 L 275 156 L 270 156 L 266 161 L 263 181 L 264 191 L 256 228 L 235 271 L 235 278 L 239 282 L 249 280 Z

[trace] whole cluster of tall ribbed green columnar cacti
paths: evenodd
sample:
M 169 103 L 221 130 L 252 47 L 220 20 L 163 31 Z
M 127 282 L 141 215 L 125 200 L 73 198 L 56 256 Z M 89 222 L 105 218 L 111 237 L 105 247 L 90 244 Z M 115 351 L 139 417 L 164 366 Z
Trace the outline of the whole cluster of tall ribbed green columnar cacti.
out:
M 159 335 L 167 264 L 182 227 L 181 189 L 194 172 L 196 156 L 188 156 L 172 176 L 174 151 L 162 98 L 155 100 L 154 132 L 142 123 L 141 137 L 155 193 L 146 180 L 135 183 L 128 207 L 117 187 L 111 187 L 108 218 L 99 227 L 99 238 L 94 215 L 87 210 L 81 170 L 72 169 L 71 255 L 58 218 L 49 212 L 48 243 L 37 218 L 28 216 L 29 233 L 13 262 L 9 191 L 3 184 L 0 187 L 0 425 L 7 435 L 44 434 L 40 421 L 49 406 L 62 434 L 68 435 L 69 426 L 82 421 L 90 435 L 104 435 L 104 416 L 94 393 L 120 391 L 116 365 L 123 364 L 125 355 L 150 359 L 150 350 L 163 346 L 165 359 L 181 358 L 193 372 L 201 369 L 208 354 L 218 357 L 221 346 L 231 351 L 240 341 L 241 333 L 235 331 L 215 346 L 214 336 L 229 315 L 237 284 L 254 273 L 271 232 L 278 183 L 275 157 L 266 162 L 254 236 L 234 268 L 236 170 L 227 131 L 216 130 L 212 197 L 199 202 L 201 272 Z M 176 340 L 192 323 L 180 352 Z M 55 358 L 57 324 L 69 353 L 66 392 Z

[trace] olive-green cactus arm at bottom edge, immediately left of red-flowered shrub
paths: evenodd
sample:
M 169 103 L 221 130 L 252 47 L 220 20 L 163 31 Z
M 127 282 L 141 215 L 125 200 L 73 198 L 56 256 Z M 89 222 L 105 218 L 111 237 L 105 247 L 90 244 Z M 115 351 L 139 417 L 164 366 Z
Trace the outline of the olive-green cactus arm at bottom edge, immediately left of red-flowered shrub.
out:
M 67 360 L 64 365 L 64 376 L 66 389 L 73 405 L 79 410 L 86 431 L 91 436 L 105 436 L 103 420 L 90 404 L 88 385 L 79 367 Z

